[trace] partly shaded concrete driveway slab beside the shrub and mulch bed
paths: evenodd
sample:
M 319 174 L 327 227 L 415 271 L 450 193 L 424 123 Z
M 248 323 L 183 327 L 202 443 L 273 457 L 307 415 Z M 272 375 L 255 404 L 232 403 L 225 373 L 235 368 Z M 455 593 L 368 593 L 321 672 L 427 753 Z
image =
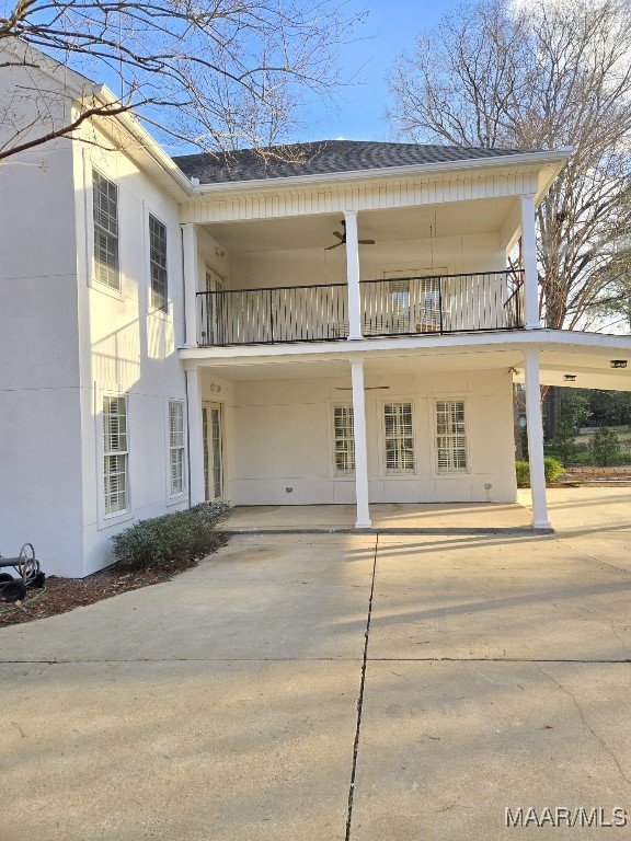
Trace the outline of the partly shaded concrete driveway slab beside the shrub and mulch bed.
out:
M 195 569 L 0 633 L 0 660 L 359 658 L 375 538 L 234 539 Z

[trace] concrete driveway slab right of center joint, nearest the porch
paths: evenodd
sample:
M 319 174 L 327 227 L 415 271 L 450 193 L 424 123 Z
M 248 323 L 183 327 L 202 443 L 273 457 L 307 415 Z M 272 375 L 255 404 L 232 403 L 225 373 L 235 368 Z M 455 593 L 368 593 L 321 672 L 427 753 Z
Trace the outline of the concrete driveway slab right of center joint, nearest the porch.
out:
M 553 538 L 380 537 L 372 658 L 631 658 L 631 576 Z

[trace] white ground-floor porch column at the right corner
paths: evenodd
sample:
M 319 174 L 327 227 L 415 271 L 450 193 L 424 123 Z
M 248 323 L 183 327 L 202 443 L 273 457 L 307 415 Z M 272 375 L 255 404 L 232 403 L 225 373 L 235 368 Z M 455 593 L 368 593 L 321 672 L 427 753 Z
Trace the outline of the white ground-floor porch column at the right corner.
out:
M 528 430 L 528 460 L 530 462 L 530 495 L 532 526 L 549 529 L 543 470 L 543 422 L 541 418 L 541 389 L 539 383 L 539 350 L 526 350 L 526 420 Z

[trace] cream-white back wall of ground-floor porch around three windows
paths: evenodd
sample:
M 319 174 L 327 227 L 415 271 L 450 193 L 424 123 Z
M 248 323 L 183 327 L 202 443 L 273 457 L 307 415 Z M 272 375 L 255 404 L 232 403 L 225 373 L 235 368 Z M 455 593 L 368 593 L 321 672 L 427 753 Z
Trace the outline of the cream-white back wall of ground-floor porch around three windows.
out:
M 347 379 L 324 378 L 234 383 L 233 425 L 227 433 L 234 505 L 354 502 L 353 480 L 336 479 L 333 468 L 332 407 L 351 403 L 348 384 Z M 368 375 L 366 385 L 371 502 L 515 500 L 512 388 L 505 371 Z M 370 391 L 376 385 L 388 390 Z M 433 413 L 440 398 L 466 401 L 467 474 L 437 473 Z M 414 475 L 385 473 L 382 404 L 399 401 L 413 403 Z

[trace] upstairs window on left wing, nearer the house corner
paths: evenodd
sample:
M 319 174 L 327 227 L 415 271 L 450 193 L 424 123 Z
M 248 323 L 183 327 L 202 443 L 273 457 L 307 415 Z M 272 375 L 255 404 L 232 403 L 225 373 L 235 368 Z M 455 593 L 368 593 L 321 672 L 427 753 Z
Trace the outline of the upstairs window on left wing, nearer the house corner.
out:
M 92 170 L 94 279 L 121 289 L 118 273 L 118 187 Z

